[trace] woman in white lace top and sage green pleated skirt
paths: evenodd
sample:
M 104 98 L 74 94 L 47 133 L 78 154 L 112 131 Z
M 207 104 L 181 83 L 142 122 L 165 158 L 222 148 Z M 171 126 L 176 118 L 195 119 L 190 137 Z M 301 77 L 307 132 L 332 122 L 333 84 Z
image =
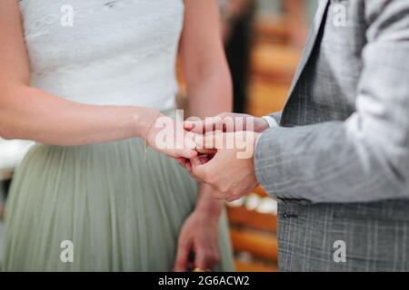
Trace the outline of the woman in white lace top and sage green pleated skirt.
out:
M 0 1 L 0 136 L 37 142 L 3 270 L 233 270 L 214 189 L 168 157 L 195 151 L 154 141 L 175 117 L 178 50 L 189 112 L 231 110 L 217 17 L 214 0 Z

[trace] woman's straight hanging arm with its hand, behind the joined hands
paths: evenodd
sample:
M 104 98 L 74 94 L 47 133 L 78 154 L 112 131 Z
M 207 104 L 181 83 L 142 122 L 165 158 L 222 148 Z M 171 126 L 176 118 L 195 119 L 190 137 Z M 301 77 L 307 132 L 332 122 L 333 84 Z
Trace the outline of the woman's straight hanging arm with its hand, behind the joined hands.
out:
M 215 0 L 185 0 L 185 28 L 180 43 L 189 113 L 204 118 L 232 110 L 232 81 L 224 56 Z M 176 271 L 188 269 L 195 251 L 195 267 L 211 268 L 218 260 L 218 219 L 222 204 L 202 184 L 195 211 L 181 230 Z

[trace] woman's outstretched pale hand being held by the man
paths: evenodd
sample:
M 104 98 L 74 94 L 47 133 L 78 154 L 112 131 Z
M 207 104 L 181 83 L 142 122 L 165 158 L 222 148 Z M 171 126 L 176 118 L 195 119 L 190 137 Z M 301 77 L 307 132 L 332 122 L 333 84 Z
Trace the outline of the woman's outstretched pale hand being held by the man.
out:
M 192 159 L 197 156 L 194 133 L 185 131 L 182 123 L 157 114 L 146 132 L 146 143 L 172 158 Z

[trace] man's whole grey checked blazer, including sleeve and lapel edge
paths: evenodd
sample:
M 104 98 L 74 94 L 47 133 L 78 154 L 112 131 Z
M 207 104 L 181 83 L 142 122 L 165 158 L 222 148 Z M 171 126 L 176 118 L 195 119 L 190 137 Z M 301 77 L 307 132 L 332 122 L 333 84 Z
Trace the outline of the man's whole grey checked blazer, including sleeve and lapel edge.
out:
M 280 269 L 409 271 L 409 1 L 321 0 L 274 117 L 254 164 Z

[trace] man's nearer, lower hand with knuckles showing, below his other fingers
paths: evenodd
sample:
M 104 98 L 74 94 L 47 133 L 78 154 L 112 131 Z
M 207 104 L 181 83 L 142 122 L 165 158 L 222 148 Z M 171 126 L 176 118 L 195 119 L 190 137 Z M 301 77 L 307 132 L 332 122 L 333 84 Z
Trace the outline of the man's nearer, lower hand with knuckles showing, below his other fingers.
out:
M 210 158 L 199 156 L 192 159 L 192 177 L 217 189 L 216 198 L 234 201 L 249 194 L 258 185 L 254 173 L 254 148 L 259 135 L 250 131 L 205 135 L 198 148 L 217 152 Z

